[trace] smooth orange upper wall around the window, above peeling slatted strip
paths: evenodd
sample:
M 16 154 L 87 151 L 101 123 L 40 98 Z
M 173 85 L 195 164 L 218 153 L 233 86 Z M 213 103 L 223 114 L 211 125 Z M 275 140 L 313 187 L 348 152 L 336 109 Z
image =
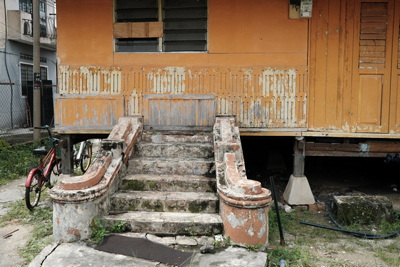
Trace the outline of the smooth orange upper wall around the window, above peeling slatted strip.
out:
M 112 0 L 57 3 L 61 65 L 306 66 L 308 21 L 289 2 L 210 0 L 209 52 L 114 53 Z

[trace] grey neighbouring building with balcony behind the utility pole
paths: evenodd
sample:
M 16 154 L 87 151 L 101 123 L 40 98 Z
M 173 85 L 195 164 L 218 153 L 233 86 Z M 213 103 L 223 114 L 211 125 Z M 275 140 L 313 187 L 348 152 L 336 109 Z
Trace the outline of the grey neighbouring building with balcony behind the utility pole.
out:
M 57 84 L 55 11 L 55 1 L 40 1 L 43 85 Z M 0 83 L 13 83 L 0 86 L 0 130 L 5 130 L 30 124 L 26 107 L 30 112 L 33 110 L 32 0 L 0 1 L 0 14 Z M 43 123 L 52 121 L 52 86 L 42 88 L 42 113 Z

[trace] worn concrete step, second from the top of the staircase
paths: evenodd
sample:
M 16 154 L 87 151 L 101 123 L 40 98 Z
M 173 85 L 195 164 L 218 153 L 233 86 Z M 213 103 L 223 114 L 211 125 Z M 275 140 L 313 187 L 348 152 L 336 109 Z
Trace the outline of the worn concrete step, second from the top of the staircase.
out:
M 214 157 L 212 143 L 151 143 L 140 142 L 135 145 L 137 157 L 194 157 L 210 159 Z

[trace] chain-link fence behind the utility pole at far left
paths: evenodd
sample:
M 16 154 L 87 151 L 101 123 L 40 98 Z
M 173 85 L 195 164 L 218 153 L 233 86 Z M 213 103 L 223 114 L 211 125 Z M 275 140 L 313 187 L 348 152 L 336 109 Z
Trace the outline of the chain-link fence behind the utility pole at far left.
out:
M 55 86 L 41 87 L 41 126 L 54 125 Z M 8 144 L 33 140 L 33 84 L 0 83 L 0 139 Z M 24 95 L 22 95 L 24 94 Z

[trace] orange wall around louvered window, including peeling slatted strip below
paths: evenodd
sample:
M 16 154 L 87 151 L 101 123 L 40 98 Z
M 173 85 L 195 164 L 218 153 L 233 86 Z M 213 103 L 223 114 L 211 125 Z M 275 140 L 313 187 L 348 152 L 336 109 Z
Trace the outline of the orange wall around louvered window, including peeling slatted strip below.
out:
M 96 108 L 74 114 L 94 103 L 82 95 L 123 96 L 123 115 L 143 115 L 148 94 L 212 95 L 215 115 L 243 128 L 306 128 L 308 20 L 288 19 L 289 1 L 209 0 L 208 11 L 208 52 L 115 53 L 113 0 L 57 3 L 58 90 L 67 99 L 55 112 L 71 112 L 57 117 L 59 130 L 101 128 L 91 122 Z

